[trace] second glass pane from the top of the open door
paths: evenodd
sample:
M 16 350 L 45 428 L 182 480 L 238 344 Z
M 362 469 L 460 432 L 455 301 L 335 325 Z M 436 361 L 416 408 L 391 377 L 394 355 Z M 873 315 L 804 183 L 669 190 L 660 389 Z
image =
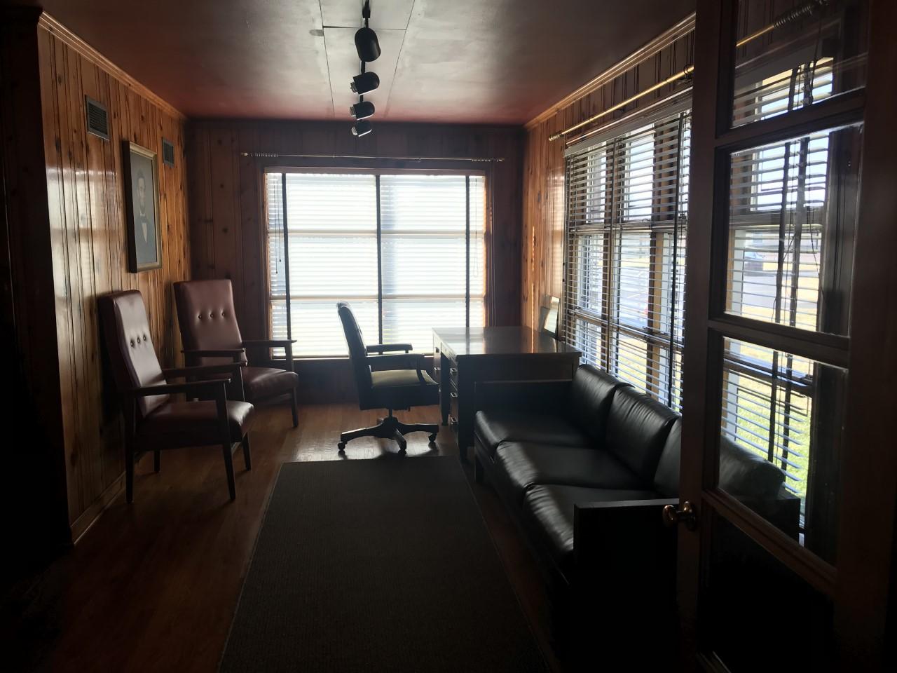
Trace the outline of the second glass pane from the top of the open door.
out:
M 731 157 L 726 310 L 846 335 L 862 127 Z

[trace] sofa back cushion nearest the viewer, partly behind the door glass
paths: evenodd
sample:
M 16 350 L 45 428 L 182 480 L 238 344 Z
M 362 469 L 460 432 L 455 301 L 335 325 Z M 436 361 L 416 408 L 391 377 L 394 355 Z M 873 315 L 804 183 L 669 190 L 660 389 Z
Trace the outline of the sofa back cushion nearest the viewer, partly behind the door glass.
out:
M 682 420 L 677 419 L 666 438 L 654 475 L 654 488 L 660 494 L 679 494 L 679 459 L 682 447 Z M 743 449 L 725 437 L 719 440 L 719 487 L 741 498 L 772 500 L 779 497 L 785 473 L 769 460 Z

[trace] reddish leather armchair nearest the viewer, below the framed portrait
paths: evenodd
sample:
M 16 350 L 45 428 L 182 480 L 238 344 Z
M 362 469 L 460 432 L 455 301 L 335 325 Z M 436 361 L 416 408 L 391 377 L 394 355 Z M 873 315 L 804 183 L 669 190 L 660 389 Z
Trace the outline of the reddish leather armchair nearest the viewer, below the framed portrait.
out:
M 254 407 L 229 401 L 225 388 L 244 363 L 220 363 L 163 370 L 156 357 L 146 319 L 144 298 L 135 290 L 112 293 L 98 300 L 109 363 L 125 415 L 126 499 L 134 500 L 135 452 L 152 450 L 159 472 L 160 452 L 187 446 L 219 444 L 224 456 L 228 490 L 236 498 L 232 453 L 243 447 L 246 468 L 252 467 L 248 430 Z M 185 379 L 182 383 L 171 380 Z M 172 396 L 205 394 L 212 399 L 181 401 Z

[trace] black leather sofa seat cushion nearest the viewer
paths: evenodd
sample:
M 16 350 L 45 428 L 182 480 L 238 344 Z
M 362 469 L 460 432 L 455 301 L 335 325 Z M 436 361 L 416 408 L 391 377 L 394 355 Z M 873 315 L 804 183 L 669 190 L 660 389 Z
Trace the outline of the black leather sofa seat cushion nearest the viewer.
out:
M 568 579 L 573 568 L 573 506 L 577 503 L 613 503 L 662 497 L 642 489 L 584 488 L 536 485 L 523 501 L 523 522 L 554 564 Z

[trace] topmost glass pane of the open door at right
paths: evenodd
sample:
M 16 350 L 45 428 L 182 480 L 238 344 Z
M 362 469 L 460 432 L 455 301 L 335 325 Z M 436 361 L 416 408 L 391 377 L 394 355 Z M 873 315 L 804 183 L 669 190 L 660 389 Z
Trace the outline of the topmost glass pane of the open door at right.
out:
M 740 0 L 732 125 L 866 84 L 867 2 Z

